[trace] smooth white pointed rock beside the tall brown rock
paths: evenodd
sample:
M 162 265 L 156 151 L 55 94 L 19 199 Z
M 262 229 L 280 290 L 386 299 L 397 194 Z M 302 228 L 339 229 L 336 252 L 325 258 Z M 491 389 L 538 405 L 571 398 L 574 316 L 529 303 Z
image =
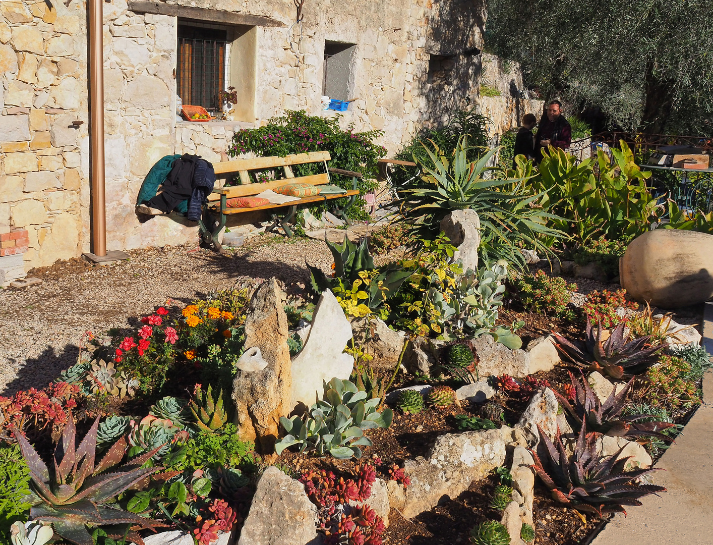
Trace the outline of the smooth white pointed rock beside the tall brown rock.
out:
M 348 380 L 352 375 L 354 358 L 343 353 L 347 341 L 352 338 L 352 325 L 330 290 L 319 297 L 313 316 L 304 348 L 292 360 L 289 411 L 300 403 L 309 407 L 321 399 L 324 382 L 334 377 Z

